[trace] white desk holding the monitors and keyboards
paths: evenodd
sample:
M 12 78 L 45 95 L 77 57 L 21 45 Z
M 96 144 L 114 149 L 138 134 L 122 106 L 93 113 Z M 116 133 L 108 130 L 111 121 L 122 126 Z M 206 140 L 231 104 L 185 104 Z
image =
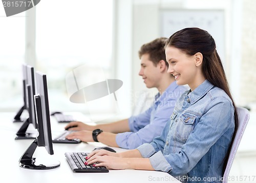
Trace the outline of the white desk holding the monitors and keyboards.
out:
M 13 113 L 0 113 L 0 136 L 1 136 L 1 161 L 0 182 L 28 183 L 28 182 L 179 182 L 165 172 L 142 171 L 142 170 L 110 170 L 109 173 L 74 173 L 64 155 L 65 152 L 90 152 L 96 147 L 103 146 L 101 143 L 80 144 L 53 144 L 54 155 L 51 157 L 60 162 L 60 167 L 51 170 L 29 170 L 20 168 L 18 161 L 20 156 L 29 147 L 33 140 L 14 140 L 15 133 L 21 123 L 12 122 Z M 61 131 L 66 124 L 57 124 L 51 121 L 52 132 Z M 114 148 L 116 151 L 124 151 Z M 45 155 L 44 147 L 37 147 L 35 157 Z

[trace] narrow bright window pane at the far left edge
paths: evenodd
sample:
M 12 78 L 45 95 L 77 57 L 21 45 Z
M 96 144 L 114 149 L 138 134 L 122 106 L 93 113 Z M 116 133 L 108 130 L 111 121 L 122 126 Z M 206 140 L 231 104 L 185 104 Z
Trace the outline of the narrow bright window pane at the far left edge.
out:
M 25 58 L 25 12 L 6 17 L 0 10 L 0 111 L 23 105 L 22 63 Z

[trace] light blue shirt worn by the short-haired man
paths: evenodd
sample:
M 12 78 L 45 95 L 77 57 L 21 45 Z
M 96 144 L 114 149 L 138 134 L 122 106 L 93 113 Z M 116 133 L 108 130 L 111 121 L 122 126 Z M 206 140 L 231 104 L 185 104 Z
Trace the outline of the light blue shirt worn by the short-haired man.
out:
M 153 105 L 138 116 L 129 118 L 131 132 L 118 133 L 116 143 L 125 149 L 135 149 L 144 143 L 151 143 L 161 134 L 175 103 L 186 88 L 179 86 L 176 81 L 171 83 L 160 95 L 156 95 Z

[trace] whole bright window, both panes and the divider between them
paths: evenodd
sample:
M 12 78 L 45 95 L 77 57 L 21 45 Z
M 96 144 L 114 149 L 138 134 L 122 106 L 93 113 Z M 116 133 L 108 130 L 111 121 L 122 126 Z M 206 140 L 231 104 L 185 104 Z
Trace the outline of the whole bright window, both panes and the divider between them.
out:
M 110 71 L 113 0 L 45 0 L 35 9 L 35 13 L 27 15 L 23 12 L 11 17 L 6 17 L 4 8 L 1 9 L 0 110 L 13 111 L 23 105 L 21 78 L 22 63 L 27 62 L 27 39 L 35 41 L 35 49 L 32 49 L 35 53 L 26 56 L 30 57 L 29 64 L 35 71 L 47 74 L 50 109 L 88 111 L 88 106 L 69 101 L 65 78 L 77 68 L 83 68 L 84 73 L 91 73 L 86 78 L 91 80 L 90 83 L 114 79 Z M 35 16 L 35 25 L 33 21 L 26 24 L 26 16 Z M 25 30 L 31 31 L 33 27 L 35 38 L 30 34 L 26 38 Z M 31 58 L 33 55 L 35 58 Z M 96 103 L 89 111 L 105 110 Z M 114 103 L 109 109 L 115 108 Z

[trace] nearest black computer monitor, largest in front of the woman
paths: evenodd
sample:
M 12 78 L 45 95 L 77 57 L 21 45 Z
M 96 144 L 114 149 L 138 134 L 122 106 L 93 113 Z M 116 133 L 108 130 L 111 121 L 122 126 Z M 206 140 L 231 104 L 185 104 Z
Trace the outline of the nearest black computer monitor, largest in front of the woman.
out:
M 54 159 L 33 157 L 37 146 L 44 146 L 49 154 L 53 154 L 52 134 L 48 101 L 46 75 L 36 72 L 37 95 L 34 96 L 38 136 L 19 159 L 19 166 L 27 169 L 46 170 L 60 166 Z M 39 162 L 38 162 L 39 159 Z

